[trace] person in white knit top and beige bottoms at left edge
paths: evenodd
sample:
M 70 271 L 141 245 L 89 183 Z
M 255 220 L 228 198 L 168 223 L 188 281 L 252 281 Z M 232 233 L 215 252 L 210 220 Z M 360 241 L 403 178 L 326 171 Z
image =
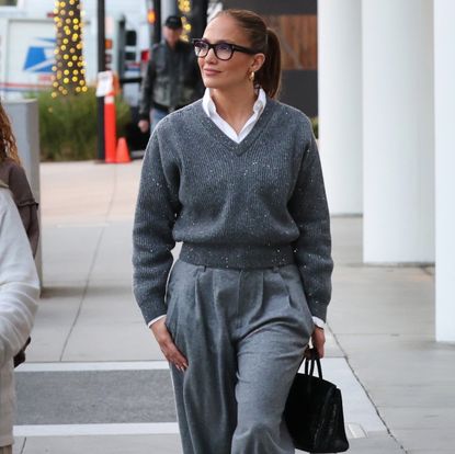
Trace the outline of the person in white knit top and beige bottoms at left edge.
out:
M 13 356 L 32 329 L 39 281 L 32 250 L 8 186 L 0 180 L 0 454 L 11 454 Z

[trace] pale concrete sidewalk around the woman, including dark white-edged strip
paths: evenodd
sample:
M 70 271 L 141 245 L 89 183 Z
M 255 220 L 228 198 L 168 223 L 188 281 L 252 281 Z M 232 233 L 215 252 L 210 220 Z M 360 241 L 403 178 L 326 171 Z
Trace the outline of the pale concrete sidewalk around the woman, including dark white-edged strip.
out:
M 181 452 L 167 363 L 130 290 L 139 172 L 41 166 L 44 291 L 18 371 L 15 453 Z M 333 218 L 332 231 L 322 364 L 350 452 L 454 453 L 455 347 L 433 340 L 433 270 L 362 264 L 362 218 Z

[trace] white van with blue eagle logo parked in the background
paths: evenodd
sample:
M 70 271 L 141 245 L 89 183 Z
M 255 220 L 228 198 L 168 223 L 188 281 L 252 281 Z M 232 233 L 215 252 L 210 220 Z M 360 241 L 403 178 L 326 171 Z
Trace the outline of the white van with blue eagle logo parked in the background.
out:
M 49 89 L 54 65 L 54 0 L 0 0 L 0 97 L 18 98 Z M 81 0 L 83 56 L 88 84 L 98 71 L 96 0 Z M 148 58 L 151 0 L 105 2 L 105 36 L 112 44 L 106 65 L 121 78 L 138 78 Z M 124 98 L 136 106 L 139 84 L 124 87 Z

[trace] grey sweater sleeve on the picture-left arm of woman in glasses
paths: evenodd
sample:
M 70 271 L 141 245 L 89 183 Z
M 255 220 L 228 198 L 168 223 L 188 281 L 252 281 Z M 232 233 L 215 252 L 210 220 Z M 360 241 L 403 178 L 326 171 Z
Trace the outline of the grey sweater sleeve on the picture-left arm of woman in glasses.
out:
M 146 324 L 166 314 L 166 283 L 179 213 L 179 167 L 155 132 L 147 146 L 133 229 L 134 294 Z

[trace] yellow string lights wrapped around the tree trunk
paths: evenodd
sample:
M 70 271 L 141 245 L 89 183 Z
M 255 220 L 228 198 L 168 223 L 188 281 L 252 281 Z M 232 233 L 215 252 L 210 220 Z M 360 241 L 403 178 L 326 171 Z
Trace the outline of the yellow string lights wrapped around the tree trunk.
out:
M 53 98 L 82 93 L 86 84 L 86 63 L 82 56 L 82 22 L 79 0 L 56 0 L 55 65 L 53 66 Z

